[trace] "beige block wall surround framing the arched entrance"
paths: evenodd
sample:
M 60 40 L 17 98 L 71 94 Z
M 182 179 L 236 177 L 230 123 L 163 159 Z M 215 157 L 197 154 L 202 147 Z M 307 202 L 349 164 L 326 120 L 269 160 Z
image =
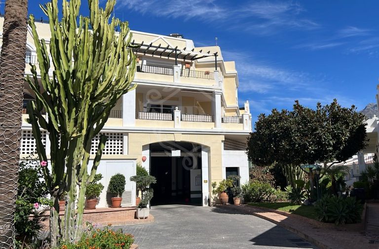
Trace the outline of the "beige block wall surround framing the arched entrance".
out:
M 222 167 L 222 141 L 224 135 L 204 135 L 204 134 L 158 134 L 158 133 L 129 133 L 128 155 L 132 158 L 142 158 L 142 146 L 157 142 L 182 141 L 201 144 L 209 147 L 209 189 L 211 183 L 220 182 L 223 179 Z

